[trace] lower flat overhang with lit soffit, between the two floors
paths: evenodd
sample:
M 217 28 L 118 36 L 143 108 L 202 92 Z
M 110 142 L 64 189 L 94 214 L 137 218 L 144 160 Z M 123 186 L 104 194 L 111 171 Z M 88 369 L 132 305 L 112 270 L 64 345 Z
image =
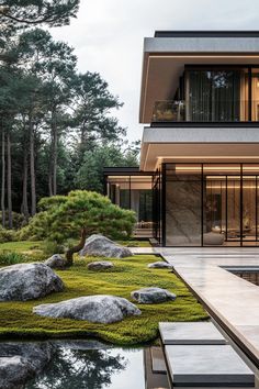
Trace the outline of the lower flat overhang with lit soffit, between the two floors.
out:
M 160 163 L 259 163 L 259 129 L 145 127 L 140 170 Z

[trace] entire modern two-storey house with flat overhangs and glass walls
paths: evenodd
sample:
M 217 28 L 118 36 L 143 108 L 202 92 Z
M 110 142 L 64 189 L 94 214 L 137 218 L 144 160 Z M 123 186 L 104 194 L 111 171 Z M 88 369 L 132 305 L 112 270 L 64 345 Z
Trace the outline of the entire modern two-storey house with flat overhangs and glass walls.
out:
M 259 245 L 259 32 L 145 38 L 139 122 L 139 169 L 104 173 L 138 230 L 162 246 Z

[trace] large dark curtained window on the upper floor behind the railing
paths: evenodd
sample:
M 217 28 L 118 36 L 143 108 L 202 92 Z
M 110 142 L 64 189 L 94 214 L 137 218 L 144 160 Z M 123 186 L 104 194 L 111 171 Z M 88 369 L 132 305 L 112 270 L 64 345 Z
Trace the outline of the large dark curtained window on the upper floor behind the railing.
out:
M 239 122 L 248 119 L 247 69 L 187 70 L 187 120 Z

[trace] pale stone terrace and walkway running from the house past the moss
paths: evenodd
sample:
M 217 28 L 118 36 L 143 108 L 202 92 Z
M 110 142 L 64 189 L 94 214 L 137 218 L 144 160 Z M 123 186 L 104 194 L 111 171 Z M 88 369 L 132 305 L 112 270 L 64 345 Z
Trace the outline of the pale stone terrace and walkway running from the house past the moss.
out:
M 259 287 L 225 269 L 259 269 L 259 247 L 160 247 L 159 252 L 259 366 Z

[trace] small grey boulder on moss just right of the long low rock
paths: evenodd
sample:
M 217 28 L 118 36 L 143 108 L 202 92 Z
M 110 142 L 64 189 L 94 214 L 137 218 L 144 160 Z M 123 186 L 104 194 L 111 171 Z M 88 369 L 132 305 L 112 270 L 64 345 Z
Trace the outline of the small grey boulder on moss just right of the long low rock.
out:
M 142 304 L 154 304 L 169 300 L 176 300 L 177 296 L 167 289 L 143 288 L 131 293 L 132 298 Z

